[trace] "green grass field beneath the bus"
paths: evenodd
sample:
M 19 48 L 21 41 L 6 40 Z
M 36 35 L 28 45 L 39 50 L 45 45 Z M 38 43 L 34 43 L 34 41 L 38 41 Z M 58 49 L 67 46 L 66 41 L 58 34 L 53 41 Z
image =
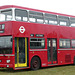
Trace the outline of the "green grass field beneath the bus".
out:
M 48 67 L 36 71 L 31 71 L 30 69 L 14 71 L 12 69 L 0 68 L 0 75 L 75 75 L 75 66 Z

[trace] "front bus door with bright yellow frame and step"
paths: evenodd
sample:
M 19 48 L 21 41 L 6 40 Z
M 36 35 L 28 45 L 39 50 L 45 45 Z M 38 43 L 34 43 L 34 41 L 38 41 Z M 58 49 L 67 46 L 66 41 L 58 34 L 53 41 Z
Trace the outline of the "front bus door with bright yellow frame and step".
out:
M 27 66 L 27 38 L 15 38 L 15 67 Z

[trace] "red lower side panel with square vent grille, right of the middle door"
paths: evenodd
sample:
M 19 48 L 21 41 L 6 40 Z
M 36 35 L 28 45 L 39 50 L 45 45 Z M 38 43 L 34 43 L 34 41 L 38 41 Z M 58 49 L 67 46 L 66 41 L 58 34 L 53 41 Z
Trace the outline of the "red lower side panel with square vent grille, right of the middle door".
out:
M 72 64 L 73 63 L 73 54 L 71 50 L 59 50 L 58 51 L 58 64 Z

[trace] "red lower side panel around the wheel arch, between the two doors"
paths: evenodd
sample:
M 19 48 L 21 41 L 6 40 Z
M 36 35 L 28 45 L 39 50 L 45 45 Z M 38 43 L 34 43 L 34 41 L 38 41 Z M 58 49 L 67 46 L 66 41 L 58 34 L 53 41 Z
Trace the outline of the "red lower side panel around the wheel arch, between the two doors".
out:
M 41 67 L 48 66 L 47 51 L 30 51 L 29 52 L 29 66 L 30 66 L 30 63 L 31 63 L 31 59 L 34 56 L 38 56 L 40 58 L 40 60 L 41 60 Z

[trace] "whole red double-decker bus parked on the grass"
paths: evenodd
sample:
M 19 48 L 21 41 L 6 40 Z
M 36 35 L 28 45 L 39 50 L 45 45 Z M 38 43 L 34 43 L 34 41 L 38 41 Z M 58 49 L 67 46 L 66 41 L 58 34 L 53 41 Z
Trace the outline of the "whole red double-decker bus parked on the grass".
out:
M 0 67 L 75 63 L 75 16 L 20 6 L 0 7 Z

